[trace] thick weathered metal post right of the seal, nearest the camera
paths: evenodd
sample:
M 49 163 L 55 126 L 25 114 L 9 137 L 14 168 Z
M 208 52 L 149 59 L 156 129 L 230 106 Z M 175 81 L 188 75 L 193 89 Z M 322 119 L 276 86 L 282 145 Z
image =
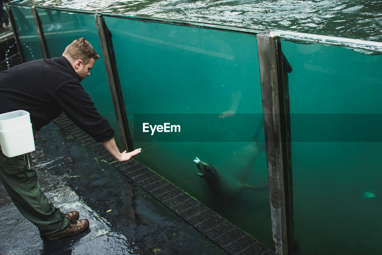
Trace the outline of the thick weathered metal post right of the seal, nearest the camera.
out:
M 272 236 L 275 252 L 293 254 L 293 190 L 288 72 L 277 38 L 257 34 Z

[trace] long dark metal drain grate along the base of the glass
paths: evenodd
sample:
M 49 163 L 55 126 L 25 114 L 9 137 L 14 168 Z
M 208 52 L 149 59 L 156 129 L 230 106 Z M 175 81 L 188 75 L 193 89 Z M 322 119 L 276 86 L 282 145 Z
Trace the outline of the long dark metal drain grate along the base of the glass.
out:
M 138 161 L 134 159 L 125 162 L 115 160 L 102 146 L 102 143 L 95 142 L 65 114 L 58 116 L 54 122 L 226 252 L 235 255 L 277 254 Z

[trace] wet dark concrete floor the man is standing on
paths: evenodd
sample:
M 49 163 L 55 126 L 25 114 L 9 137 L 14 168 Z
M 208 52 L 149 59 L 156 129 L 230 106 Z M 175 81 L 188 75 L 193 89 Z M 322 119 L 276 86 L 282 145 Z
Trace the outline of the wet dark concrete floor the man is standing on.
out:
M 51 123 L 37 134 L 33 168 L 45 195 L 90 229 L 50 243 L 0 183 L 0 254 L 226 254 L 117 169 Z

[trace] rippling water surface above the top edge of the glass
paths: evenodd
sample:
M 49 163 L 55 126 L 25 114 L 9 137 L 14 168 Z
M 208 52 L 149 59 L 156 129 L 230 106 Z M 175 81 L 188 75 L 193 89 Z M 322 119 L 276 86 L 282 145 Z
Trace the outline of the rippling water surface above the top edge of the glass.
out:
M 382 42 L 381 0 L 25 0 L 23 3 Z

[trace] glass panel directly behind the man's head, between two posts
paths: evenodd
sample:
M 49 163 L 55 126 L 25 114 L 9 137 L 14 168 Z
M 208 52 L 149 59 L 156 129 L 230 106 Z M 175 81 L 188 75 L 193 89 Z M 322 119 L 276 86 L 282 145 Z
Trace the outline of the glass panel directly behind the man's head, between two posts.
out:
M 45 9 L 37 9 L 37 13 L 42 21 L 50 57 L 62 56 L 66 46 L 81 37 L 89 41 L 95 51 L 97 51 L 100 59 L 95 62 L 90 72 L 91 75 L 85 78 L 81 82 L 81 85 L 85 88 L 86 92 L 89 93 L 98 112 L 105 116 L 114 128 L 115 140 L 120 147 L 118 126 L 115 120 L 94 15 Z

